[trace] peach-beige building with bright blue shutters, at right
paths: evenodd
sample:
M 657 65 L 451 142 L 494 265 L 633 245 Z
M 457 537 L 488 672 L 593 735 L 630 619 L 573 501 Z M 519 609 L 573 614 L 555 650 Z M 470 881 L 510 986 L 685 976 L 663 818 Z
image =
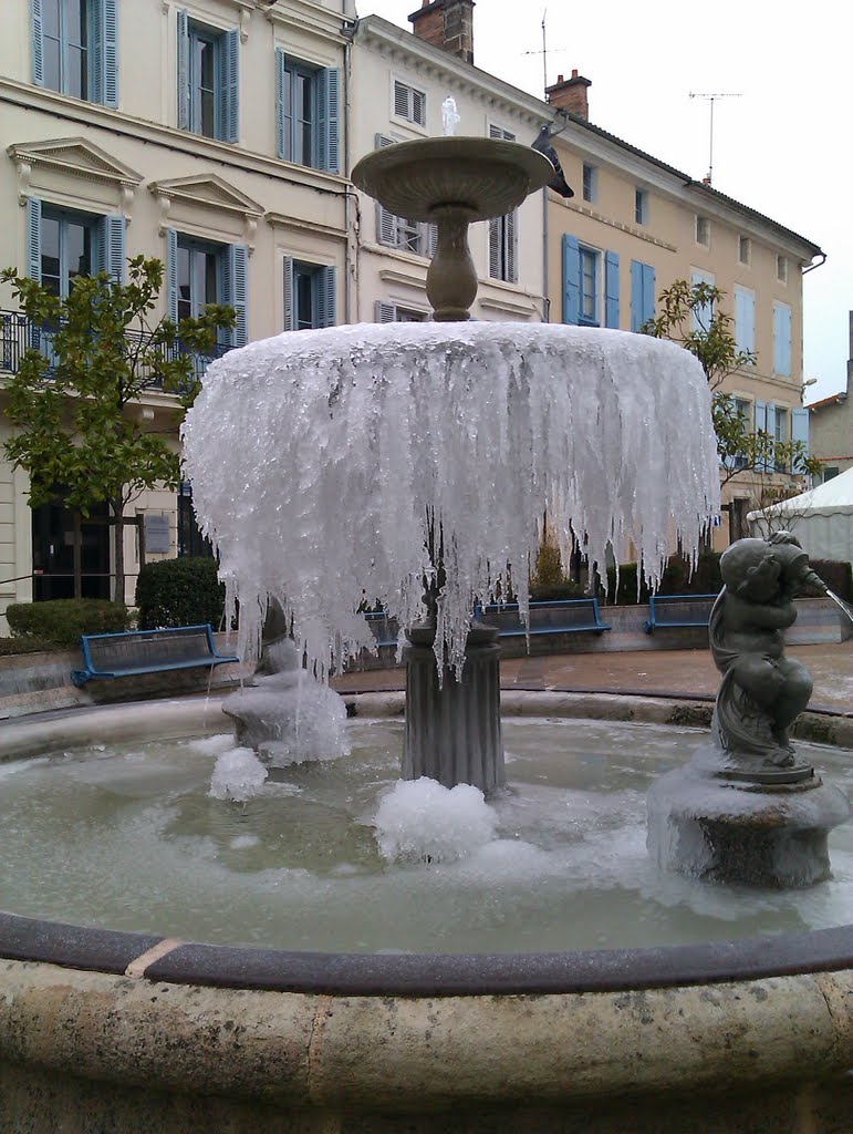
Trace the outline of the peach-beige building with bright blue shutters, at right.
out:
M 724 293 L 724 311 L 750 365 L 720 390 L 752 429 L 808 445 L 802 407 L 803 273 L 820 248 L 705 181 L 657 161 L 589 121 L 590 82 L 577 71 L 548 88 L 554 146 L 574 196 L 551 193 L 548 294 L 553 321 L 638 331 L 675 280 Z M 696 328 L 693 328 L 696 329 Z M 760 481 L 800 481 L 787 469 Z M 724 486 L 714 545 L 747 534 L 760 483 L 748 472 Z

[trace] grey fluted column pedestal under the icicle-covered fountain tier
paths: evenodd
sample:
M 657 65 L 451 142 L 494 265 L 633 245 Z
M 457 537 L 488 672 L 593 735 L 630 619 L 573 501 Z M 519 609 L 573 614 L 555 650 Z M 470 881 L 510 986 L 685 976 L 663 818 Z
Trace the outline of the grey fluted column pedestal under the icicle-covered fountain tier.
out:
M 493 794 L 506 782 L 497 631 L 472 626 L 462 679 L 445 668 L 441 686 L 433 653 L 435 627 L 413 626 L 409 641 L 403 779 L 428 776 L 444 787 L 472 784 Z

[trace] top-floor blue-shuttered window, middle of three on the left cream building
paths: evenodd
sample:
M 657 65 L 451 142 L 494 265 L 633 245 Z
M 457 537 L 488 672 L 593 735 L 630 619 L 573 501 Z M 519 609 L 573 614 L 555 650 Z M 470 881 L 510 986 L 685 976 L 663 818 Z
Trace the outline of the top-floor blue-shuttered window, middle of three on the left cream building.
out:
M 220 142 L 239 142 L 240 34 L 178 12 L 178 126 Z

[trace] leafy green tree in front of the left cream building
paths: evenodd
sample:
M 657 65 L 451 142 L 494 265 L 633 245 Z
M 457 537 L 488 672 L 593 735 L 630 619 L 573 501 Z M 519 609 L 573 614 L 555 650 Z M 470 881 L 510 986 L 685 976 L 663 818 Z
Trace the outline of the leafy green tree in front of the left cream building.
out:
M 95 505 L 109 505 L 113 598 L 123 602 L 125 509 L 144 489 L 178 486 L 174 435 L 198 392 L 194 355 L 213 350 L 217 330 L 234 325 L 234 311 L 211 304 L 178 325 L 154 321 L 163 264 L 144 256 L 128 262 L 126 284 L 104 273 L 77 277 L 67 299 L 14 268 L 0 279 L 11 284 L 34 328 L 33 345 L 6 384 L 6 415 L 15 426 L 6 456 L 29 474 L 32 508 L 60 499 L 86 516 Z M 151 387 L 177 400 L 167 431 L 138 412 Z

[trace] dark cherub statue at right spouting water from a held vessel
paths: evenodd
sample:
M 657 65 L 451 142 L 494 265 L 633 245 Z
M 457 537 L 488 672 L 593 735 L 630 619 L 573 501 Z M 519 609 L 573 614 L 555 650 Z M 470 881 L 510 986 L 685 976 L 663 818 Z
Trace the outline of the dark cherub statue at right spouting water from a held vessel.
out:
M 788 532 L 737 540 L 722 556 L 725 586 L 710 617 L 710 648 L 723 683 L 714 711 L 717 743 L 747 767 L 795 763 L 788 729 L 811 696 L 809 671 L 785 658 L 783 632 L 796 619 L 794 596 L 825 584 Z

